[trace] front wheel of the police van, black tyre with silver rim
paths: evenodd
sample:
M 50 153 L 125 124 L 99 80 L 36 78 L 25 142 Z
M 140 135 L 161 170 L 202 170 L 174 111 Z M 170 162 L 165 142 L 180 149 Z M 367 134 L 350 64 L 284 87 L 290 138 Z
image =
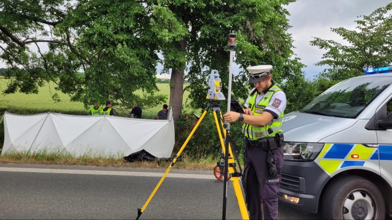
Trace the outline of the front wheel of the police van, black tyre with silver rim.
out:
M 327 188 L 322 213 L 324 219 L 385 219 L 384 197 L 368 179 L 343 176 Z

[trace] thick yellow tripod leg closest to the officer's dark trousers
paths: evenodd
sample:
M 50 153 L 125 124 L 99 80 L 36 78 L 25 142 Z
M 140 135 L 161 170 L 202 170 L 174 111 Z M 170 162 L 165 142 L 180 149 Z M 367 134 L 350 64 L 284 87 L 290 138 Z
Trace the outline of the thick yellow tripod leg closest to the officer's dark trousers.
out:
M 222 137 L 222 133 L 221 133 L 221 128 L 219 125 L 219 121 L 218 121 L 218 116 L 217 113 L 214 111 L 214 118 L 215 118 L 215 124 L 217 125 L 217 130 L 218 130 L 218 134 L 219 134 L 219 139 L 221 141 L 221 146 L 223 149 L 223 153 L 226 154 L 226 149 L 223 143 L 223 137 Z M 223 127 L 223 123 L 222 123 L 222 127 Z M 223 133 L 226 134 L 225 129 L 222 128 Z M 227 138 L 227 137 L 225 137 Z M 231 155 L 227 161 L 228 164 L 235 164 L 234 158 L 233 158 L 233 152 L 231 151 L 231 146 L 229 144 L 228 146 L 228 152 L 229 155 Z M 242 194 L 242 190 L 241 190 L 241 185 L 240 185 L 240 177 L 238 176 L 234 176 L 234 167 L 233 166 L 228 166 L 227 172 L 229 174 L 231 174 L 231 182 L 233 183 L 233 188 L 234 188 L 234 193 L 236 195 L 237 201 L 238 201 L 238 206 L 240 208 L 240 212 L 241 212 L 241 217 L 242 219 L 248 220 L 249 219 L 249 215 L 248 215 L 248 211 L 246 209 L 246 205 L 245 205 L 245 200 L 244 200 L 244 195 Z M 223 176 L 223 178 L 227 178 L 227 176 Z

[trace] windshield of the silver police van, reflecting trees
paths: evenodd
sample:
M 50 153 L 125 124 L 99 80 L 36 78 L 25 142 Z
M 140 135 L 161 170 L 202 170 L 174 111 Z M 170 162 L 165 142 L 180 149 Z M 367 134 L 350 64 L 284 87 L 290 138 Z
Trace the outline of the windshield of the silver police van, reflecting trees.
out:
M 347 79 L 325 90 L 301 112 L 356 118 L 391 83 L 392 77 L 387 76 Z

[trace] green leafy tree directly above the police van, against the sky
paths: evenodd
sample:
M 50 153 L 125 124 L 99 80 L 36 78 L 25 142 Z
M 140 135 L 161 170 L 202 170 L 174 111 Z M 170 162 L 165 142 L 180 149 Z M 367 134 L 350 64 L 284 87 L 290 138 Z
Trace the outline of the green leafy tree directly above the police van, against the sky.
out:
M 322 61 L 316 65 L 328 66 L 319 77 L 335 84 L 344 79 L 360 76 L 368 68 L 378 68 L 392 63 L 392 3 L 372 12 L 369 16 L 359 16 L 354 21 L 355 30 L 344 27 L 331 28 L 347 44 L 332 40 L 314 38 L 311 45 L 327 50 Z M 325 81 L 324 81 L 325 82 Z M 325 85 L 325 84 L 323 84 Z M 321 85 L 322 86 L 322 85 Z

